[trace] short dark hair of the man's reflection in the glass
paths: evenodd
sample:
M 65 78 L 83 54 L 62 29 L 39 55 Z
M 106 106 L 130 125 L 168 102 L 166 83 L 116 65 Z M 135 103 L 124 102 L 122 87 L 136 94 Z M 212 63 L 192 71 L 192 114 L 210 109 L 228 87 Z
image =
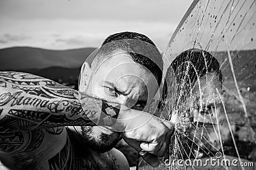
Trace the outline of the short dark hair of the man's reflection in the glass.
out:
M 176 81 L 178 83 L 177 87 L 180 89 L 182 81 L 185 83 L 185 88 L 189 92 L 191 86 L 195 85 L 197 78 L 204 76 L 207 73 L 216 73 L 218 80 L 222 83 L 222 74 L 220 69 L 220 64 L 218 60 L 211 55 L 211 53 L 200 50 L 197 48 L 191 48 L 186 50 L 180 55 L 178 55 L 168 67 L 166 72 L 166 80 L 163 91 L 163 98 L 167 97 L 167 82 L 172 77 L 169 74 L 175 74 Z M 184 74 L 188 73 L 188 74 Z M 186 78 L 186 76 L 188 78 Z

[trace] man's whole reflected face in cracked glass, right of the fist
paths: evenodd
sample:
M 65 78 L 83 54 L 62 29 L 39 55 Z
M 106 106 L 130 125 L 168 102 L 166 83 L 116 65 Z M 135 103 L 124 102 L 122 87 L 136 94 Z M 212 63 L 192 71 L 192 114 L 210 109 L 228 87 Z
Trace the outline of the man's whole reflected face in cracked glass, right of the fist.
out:
M 184 149 L 181 149 L 180 154 L 184 158 L 188 155 L 198 158 L 209 151 L 218 151 L 221 146 L 218 127 L 221 134 L 225 131 L 225 127 L 217 125 L 223 116 L 220 96 L 222 85 L 217 74 L 201 76 L 191 88 L 185 94 L 181 93 L 184 96 L 181 96 L 178 111 L 173 111 L 171 119 L 179 133 L 177 138 L 181 138 L 180 145 Z

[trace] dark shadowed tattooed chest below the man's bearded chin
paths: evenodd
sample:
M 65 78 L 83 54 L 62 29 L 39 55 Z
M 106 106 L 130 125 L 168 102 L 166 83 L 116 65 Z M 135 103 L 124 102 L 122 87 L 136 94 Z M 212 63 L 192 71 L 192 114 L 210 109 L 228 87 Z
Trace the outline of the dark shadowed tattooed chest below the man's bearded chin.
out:
M 48 160 L 50 170 L 121 169 L 111 153 L 93 153 L 86 146 L 81 146 L 81 143 L 76 143 L 68 129 L 67 134 L 65 146 Z M 77 150 L 83 154 L 77 154 Z

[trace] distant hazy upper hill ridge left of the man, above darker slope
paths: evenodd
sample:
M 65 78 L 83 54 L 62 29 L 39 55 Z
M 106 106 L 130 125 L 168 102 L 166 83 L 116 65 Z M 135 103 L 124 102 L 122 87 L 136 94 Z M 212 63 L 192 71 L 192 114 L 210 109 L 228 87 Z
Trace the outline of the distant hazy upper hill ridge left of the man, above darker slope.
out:
M 22 71 L 45 67 L 79 68 L 95 48 L 74 50 L 44 50 L 42 48 L 12 47 L 0 50 L 0 70 Z

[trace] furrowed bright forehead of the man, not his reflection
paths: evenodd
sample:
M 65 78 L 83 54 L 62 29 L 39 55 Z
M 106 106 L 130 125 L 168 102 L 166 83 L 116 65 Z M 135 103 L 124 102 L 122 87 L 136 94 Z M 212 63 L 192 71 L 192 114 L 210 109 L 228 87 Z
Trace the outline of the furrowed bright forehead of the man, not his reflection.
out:
M 99 64 L 94 81 L 111 82 L 122 90 L 137 90 L 143 94 L 147 89 L 155 89 L 154 75 L 145 67 L 134 62 L 128 54 L 120 53 Z M 156 81 L 157 82 L 157 81 Z

